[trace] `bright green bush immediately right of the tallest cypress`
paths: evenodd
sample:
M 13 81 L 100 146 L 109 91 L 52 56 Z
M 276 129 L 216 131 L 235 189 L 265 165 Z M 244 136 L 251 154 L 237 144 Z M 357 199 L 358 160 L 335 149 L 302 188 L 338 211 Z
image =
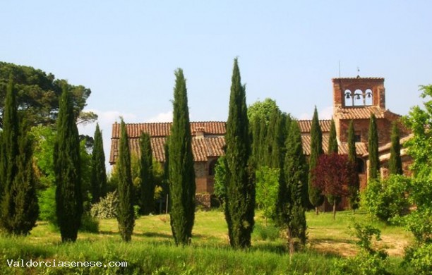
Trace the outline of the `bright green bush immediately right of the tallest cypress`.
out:
M 277 190 L 279 186 L 280 169 L 261 166 L 256 171 L 256 205 L 263 210 L 266 219 L 272 219 L 276 214 Z

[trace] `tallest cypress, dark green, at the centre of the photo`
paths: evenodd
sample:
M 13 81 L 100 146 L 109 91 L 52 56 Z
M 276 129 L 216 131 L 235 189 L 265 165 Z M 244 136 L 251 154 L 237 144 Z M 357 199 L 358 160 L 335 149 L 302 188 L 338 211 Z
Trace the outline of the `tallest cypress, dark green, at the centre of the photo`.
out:
M 246 91 L 234 59 L 227 120 L 227 194 L 225 219 L 232 247 L 249 247 L 255 214 L 255 185 L 248 171 L 251 145 L 248 134 Z M 263 129 L 261 129 L 263 130 Z

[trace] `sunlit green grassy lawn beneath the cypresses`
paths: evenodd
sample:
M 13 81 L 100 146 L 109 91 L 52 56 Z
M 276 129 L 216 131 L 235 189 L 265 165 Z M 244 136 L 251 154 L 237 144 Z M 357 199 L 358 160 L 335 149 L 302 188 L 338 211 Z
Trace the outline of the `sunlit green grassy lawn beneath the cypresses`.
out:
M 248 251 L 229 247 L 224 214 L 217 211 L 196 213 L 191 247 L 174 245 L 165 215 L 140 217 L 131 243 L 121 242 L 114 219 L 100 221 L 99 233 L 79 233 L 76 243 L 66 245 L 61 244 L 59 233 L 39 222 L 28 237 L 0 236 L 0 274 L 328 274 L 332 259 L 351 257 L 357 252 L 349 225 L 353 221 L 370 222 L 364 212 L 338 212 L 335 221 L 331 213 L 316 216 L 308 212 L 306 218 L 308 244 L 291 258 L 277 229 L 265 227 L 259 212 Z M 377 245 L 388 251 L 395 270 L 399 270 L 403 247 L 412 237 L 400 227 L 374 225 L 380 228 L 383 238 Z M 6 259 L 119 260 L 128 262 L 128 267 L 11 268 Z

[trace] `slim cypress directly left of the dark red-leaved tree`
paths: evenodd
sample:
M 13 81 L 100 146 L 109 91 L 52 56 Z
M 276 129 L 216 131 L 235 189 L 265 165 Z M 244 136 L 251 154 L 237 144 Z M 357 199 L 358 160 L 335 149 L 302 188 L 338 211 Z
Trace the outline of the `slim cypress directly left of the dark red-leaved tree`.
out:
M 318 120 L 318 111 L 313 111 L 312 125 L 311 125 L 311 156 L 309 157 L 309 179 L 308 179 L 308 193 L 309 201 L 315 207 L 316 214 L 318 214 L 318 207 L 323 204 L 324 197 L 321 195 L 321 190 L 313 185 L 312 171 L 318 164 L 318 158 L 323 154 L 323 132 L 321 131 L 320 121 Z

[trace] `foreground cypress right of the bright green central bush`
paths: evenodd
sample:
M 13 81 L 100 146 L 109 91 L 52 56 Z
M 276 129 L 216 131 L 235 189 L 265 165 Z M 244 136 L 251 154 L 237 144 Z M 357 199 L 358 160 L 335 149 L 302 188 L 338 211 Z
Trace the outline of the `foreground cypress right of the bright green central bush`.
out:
M 304 205 L 308 204 L 308 164 L 301 145 L 298 123 L 291 123 L 286 147 L 277 198 L 277 221 L 287 230 L 289 252 L 292 254 L 294 240 L 299 239 L 302 244 L 306 242 Z

